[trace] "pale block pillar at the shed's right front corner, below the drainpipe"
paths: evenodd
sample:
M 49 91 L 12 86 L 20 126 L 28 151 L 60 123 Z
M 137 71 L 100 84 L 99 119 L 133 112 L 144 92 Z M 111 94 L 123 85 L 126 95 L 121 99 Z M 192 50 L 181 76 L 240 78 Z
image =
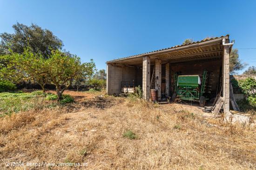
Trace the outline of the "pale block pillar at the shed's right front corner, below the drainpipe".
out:
M 228 43 L 228 42 L 227 42 Z M 225 119 L 229 120 L 232 115 L 229 112 L 229 45 L 224 46 L 223 51 L 223 98 L 224 98 L 224 115 Z

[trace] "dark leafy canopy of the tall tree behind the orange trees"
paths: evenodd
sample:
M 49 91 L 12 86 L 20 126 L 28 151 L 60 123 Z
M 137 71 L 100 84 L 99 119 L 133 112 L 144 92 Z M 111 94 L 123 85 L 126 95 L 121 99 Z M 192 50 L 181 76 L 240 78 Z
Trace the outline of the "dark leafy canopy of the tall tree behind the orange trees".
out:
M 27 26 L 17 22 L 13 25 L 13 29 L 13 34 L 7 32 L 0 34 L 0 55 L 8 54 L 9 49 L 21 54 L 24 49 L 30 47 L 32 52 L 41 53 L 47 58 L 51 50 L 61 50 L 63 47 L 62 41 L 52 31 L 42 29 L 38 25 Z

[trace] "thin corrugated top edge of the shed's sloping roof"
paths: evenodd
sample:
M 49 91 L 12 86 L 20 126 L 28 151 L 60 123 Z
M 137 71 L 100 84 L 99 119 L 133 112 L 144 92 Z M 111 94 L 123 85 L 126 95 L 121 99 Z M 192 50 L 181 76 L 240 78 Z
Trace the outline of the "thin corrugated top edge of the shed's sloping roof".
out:
M 218 39 L 218 38 L 224 38 L 224 37 L 229 37 L 229 34 L 227 34 L 226 36 L 221 36 L 221 37 L 204 38 L 201 41 L 196 41 L 196 42 L 189 43 L 189 44 L 175 45 L 173 47 L 169 47 L 169 48 L 165 48 L 165 49 L 160 49 L 160 50 L 155 50 L 155 51 L 146 52 L 146 53 L 141 53 L 141 54 L 137 54 L 137 55 L 133 55 L 133 56 L 121 57 L 121 58 L 118 58 L 118 59 L 107 61 L 107 63 L 114 62 L 116 60 L 130 58 L 130 57 L 136 57 L 136 56 L 141 56 L 141 55 L 149 55 L 149 54 L 151 54 L 153 52 L 158 52 L 158 51 L 162 51 L 162 50 L 169 50 L 169 49 L 173 49 L 173 48 L 177 48 L 177 47 L 183 47 L 183 46 L 187 46 L 187 45 L 191 45 L 191 44 L 198 44 L 198 43 L 202 43 L 202 42 L 206 42 L 206 41 L 210 41 L 210 40 L 214 40 L 214 39 Z

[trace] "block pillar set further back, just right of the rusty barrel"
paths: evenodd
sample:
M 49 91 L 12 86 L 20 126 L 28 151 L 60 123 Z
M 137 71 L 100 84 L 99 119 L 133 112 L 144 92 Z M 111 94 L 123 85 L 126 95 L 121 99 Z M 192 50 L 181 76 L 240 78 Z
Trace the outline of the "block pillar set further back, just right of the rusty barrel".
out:
M 157 90 L 158 101 L 161 100 L 161 83 L 162 83 L 162 63 L 161 60 L 155 60 L 155 89 Z

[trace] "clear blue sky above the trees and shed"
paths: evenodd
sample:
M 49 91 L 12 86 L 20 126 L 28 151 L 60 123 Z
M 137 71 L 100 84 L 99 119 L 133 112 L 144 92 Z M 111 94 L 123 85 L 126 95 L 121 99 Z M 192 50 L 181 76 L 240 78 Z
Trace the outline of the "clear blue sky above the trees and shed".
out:
M 59 37 L 64 48 L 105 62 L 230 34 L 234 48 L 256 48 L 256 0 L 0 0 L 0 32 L 17 21 L 35 23 Z M 256 49 L 239 50 L 256 65 Z M 242 71 L 241 71 L 242 72 Z

